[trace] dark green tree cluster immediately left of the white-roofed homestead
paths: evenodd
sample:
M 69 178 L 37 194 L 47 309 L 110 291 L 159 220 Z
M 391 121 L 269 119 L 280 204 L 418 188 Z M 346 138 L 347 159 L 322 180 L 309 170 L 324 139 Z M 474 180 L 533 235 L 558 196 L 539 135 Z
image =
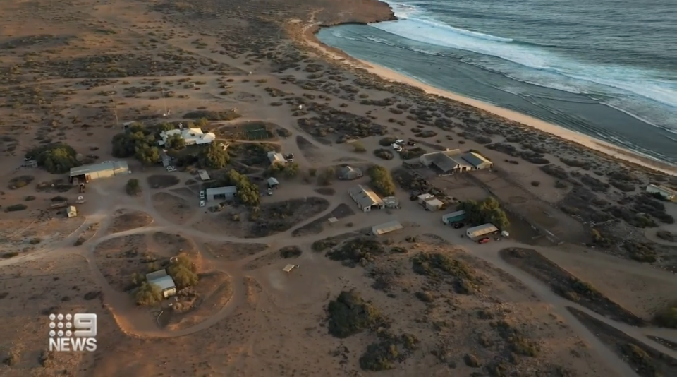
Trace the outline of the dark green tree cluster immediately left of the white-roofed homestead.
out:
M 152 131 L 143 124 L 131 124 L 127 131 L 113 137 L 113 155 L 126 158 L 134 156 L 143 164 L 160 162 L 160 150 Z

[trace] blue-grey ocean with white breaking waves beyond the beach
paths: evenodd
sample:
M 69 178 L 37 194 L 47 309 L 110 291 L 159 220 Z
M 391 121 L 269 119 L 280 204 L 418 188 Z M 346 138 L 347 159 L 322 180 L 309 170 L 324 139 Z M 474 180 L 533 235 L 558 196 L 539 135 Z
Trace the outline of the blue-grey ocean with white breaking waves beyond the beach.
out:
M 677 165 L 676 0 L 399 0 L 319 40 L 423 83 Z

